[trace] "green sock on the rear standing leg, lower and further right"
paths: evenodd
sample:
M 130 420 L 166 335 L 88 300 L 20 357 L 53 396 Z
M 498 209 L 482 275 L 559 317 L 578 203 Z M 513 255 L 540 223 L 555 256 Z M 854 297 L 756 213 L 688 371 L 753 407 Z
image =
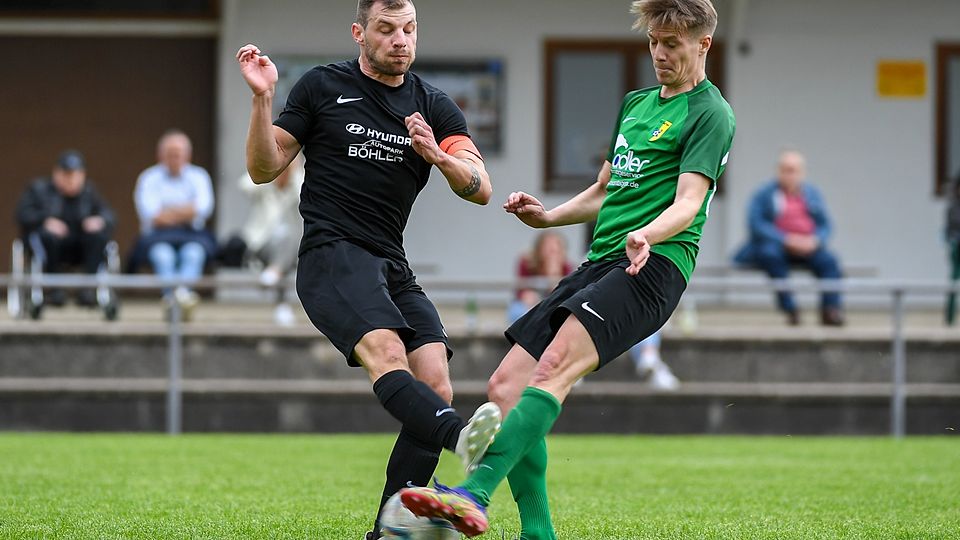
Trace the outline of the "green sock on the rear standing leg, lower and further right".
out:
M 507 475 L 520 510 L 520 540 L 556 540 L 547 501 L 547 441 L 540 439 Z

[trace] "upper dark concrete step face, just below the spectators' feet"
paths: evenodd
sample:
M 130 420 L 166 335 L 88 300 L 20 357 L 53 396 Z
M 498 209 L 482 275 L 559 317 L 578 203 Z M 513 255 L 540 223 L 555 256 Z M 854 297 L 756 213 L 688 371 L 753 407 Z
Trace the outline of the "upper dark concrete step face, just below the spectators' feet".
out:
M 163 379 L 168 371 L 167 345 L 166 336 L 0 336 L 0 380 Z M 451 345 L 456 351 L 450 363 L 454 381 L 486 380 L 508 350 L 500 337 L 453 337 Z M 891 377 L 886 341 L 774 342 L 727 336 L 665 340 L 662 354 L 680 380 L 689 384 L 883 384 Z M 329 341 L 316 335 L 188 336 L 183 341 L 183 377 L 369 384 L 362 370 L 347 367 Z M 587 381 L 641 386 L 628 358 L 610 363 Z M 960 384 L 960 342 L 908 342 L 907 382 Z

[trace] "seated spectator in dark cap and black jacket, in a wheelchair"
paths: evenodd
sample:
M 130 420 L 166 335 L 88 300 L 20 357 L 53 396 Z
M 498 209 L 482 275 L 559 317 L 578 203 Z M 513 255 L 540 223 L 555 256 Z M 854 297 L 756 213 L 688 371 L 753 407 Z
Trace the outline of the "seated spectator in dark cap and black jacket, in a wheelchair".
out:
M 75 150 L 60 154 L 51 175 L 34 180 L 17 205 L 20 229 L 49 273 L 63 272 L 70 265 L 96 273 L 115 221 L 113 210 L 87 180 L 83 155 Z M 45 302 L 61 306 L 66 294 L 50 290 Z M 96 293 L 81 289 L 77 303 L 96 306 Z

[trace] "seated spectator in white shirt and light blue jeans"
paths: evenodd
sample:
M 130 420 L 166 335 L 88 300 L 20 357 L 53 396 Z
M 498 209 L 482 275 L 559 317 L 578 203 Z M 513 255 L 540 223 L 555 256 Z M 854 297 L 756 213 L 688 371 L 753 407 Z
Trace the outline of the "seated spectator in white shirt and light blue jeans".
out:
M 158 163 L 140 174 L 134 192 L 140 217 L 140 248 L 161 278 L 196 280 L 203 274 L 216 242 L 205 229 L 213 213 L 213 185 L 203 168 L 190 163 L 190 138 L 170 130 L 157 143 Z M 190 318 L 199 298 L 186 286 L 165 290 Z

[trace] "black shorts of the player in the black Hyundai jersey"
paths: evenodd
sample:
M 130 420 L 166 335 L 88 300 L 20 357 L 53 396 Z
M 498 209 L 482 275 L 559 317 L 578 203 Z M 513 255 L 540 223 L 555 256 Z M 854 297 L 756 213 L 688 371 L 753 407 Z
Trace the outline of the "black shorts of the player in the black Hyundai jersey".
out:
M 353 356 L 360 338 L 381 328 L 396 330 L 407 352 L 439 342 L 447 358 L 453 356 L 437 308 L 406 264 L 350 242 L 330 242 L 300 254 L 297 294 L 310 321 L 348 365 L 360 365 Z

